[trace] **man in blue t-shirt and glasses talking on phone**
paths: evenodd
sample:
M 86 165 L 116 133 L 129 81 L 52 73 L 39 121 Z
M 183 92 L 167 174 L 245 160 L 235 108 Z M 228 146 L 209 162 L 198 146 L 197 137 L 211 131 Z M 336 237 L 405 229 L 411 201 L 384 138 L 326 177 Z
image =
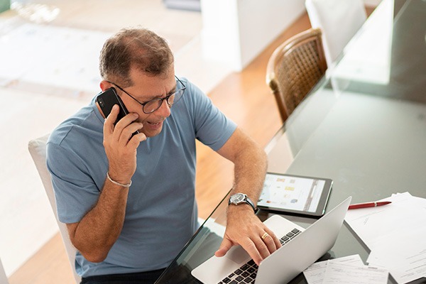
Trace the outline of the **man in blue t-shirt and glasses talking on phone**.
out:
M 195 139 L 234 163 L 233 194 L 249 198 L 229 205 L 216 255 L 236 244 L 256 263 L 273 253 L 280 242 L 249 204 L 261 192 L 265 153 L 175 77 L 165 40 L 124 29 L 104 44 L 99 66 L 102 91 L 114 87 L 129 114 L 114 125 L 119 107 L 104 119 L 93 99 L 53 131 L 47 148 L 82 283 L 153 283 L 177 256 L 197 229 Z

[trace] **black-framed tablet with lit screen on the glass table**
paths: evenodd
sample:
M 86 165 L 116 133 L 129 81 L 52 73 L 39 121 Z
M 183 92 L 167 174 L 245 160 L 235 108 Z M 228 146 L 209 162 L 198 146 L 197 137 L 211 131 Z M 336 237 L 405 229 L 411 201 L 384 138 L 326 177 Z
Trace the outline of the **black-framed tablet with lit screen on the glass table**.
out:
M 333 181 L 328 178 L 266 173 L 257 206 L 290 214 L 322 217 Z

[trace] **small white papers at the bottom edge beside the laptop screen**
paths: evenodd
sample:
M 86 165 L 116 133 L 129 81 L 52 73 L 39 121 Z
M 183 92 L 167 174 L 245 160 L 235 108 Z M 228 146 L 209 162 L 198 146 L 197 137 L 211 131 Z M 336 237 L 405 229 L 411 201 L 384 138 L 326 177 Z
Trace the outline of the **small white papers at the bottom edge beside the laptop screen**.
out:
M 386 284 L 388 271 L 364 266 L 358 254 L 312 264 L 303 275 L 309 284 Z

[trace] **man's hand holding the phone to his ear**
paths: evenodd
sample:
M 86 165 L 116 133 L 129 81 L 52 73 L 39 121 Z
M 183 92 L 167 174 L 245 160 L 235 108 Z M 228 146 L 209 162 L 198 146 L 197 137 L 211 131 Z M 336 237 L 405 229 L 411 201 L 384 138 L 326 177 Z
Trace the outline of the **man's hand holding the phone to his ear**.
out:
M 118 114 L 119 106 L 114 105 L 105 119 L 104 148 L 109 161 L 109 176 L 116 182 L 128 184 L 136 171 L 137 148 L 146 136 L 140 132 L 132 137 L 132 133 L 143 127 L 136 121 L 138 114 L 127 114 L 114 126 Z

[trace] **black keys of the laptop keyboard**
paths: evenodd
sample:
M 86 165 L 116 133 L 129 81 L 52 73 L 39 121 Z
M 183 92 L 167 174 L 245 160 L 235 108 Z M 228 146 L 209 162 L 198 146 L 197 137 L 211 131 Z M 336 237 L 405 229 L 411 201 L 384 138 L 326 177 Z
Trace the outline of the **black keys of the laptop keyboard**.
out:
M 285 236 L 280 239 L 281 245 L 284 246 L 298 234 L 300 234 L 300 230 L 291 230 L 290 232 L 288 232 L 288 234 L 285 234 Z M 257 275 L 257 270 L 258 266 L 256 265 L 256 263 L 254 263 L 253 259 L 251 259 L 217 284 L 254 283 L 254 280 L 256 279 Z

